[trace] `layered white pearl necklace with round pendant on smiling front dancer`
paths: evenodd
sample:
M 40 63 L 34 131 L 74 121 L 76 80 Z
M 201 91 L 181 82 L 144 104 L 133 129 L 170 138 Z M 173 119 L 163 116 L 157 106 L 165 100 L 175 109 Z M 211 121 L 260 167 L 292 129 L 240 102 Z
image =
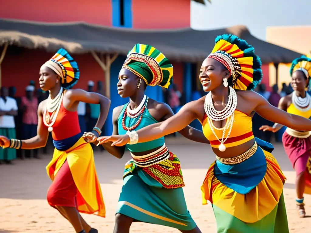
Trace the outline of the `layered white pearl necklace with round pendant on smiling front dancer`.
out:
M 218 149 L 220 151 L 226 150 L 224 142 L 228 139 L 231 133 L 233 122 L 234 122 L 234 110 L 236 109 L 237 103 L 238 103 L 238 98 L 237 98 L 235 90 L 232 87 L 229 87 L 228 103 L 226 107 L 221 111 L 217 111 L 215 109 L 213 99 L 211 96 L 211 92 L 209 92 L 205 97 L 204 110 L 208 117 L 208 123 L 210 125 L 211 131 L 215 135 L 216 139 L 220 142 L 220 145 L 218 146 Z M 223 121 L 225 119 L 228 119 L 228 120 L 224 127 L 219 129 L 214 126 L 213 121 Z M 228 131 L 227 136 L 225 137 L 225 132 L 227 129 L 229 129 L 229 131 Z M 217 137 L 215 130 L 222 130 L 221 140 L 219 140 L 219 138 Z

